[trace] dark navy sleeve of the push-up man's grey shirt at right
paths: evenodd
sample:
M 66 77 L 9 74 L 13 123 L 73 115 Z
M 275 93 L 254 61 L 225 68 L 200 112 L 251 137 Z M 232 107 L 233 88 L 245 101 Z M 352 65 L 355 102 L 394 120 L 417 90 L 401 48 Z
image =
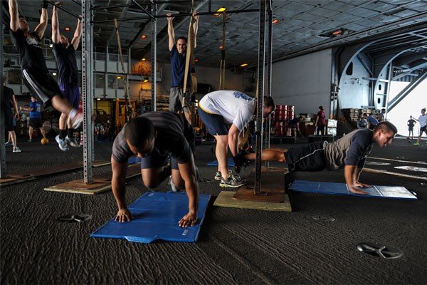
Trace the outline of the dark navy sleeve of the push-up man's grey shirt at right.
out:
M 358 168 L 364 167 L 364 162 L 369 152 L 372 150 L 372 131 L 362 129 L 355 133 L 350 139 L 350 147 L 345 157 L 345 165 L 357 165 Z

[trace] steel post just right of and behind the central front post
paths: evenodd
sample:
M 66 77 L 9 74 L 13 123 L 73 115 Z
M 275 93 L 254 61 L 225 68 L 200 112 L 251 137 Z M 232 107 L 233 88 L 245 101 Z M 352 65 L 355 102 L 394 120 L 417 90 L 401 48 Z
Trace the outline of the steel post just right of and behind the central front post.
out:
M 271 97 L 271 70 L 273 62 L 273 5 L 268 1 L 267 96 Z M 271 115 L 265 120 L 265 148 L 270 148 Z M 265 162 L 270 167 L 270 162 Z

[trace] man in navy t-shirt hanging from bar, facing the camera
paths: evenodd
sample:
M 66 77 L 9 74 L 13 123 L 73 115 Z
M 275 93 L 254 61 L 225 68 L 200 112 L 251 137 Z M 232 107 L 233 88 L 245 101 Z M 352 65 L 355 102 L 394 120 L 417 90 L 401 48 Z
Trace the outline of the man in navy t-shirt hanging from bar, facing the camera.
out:
M 183 94 L 184 88 L 184 76 L 185 76 L 185 59 L 186 59 L 186 48 L 187 39 L 184 36 L 180 36 L 175 42 L 175 32 L 172 21 L 174 17 L 172 13 L 167 14 L 167 35 L 169 37 L 169 52 L 171 56 L 171 71 L 172 81 L 171 90 L 169 93 L 169 111 L 179 113 L 181 110 L 184 111 L 186 119 L 191 122 L 191 110 L 190 110 L 190 93 Z M 199 26 L 199 15 L 194 13 L 194 48 L 196 48 L 196 34 Z M 189 68 L 189 71 L 191 68 Z M 191 86 L 191 76 L 189 74 L 186 82 L 187 90 Z M 182 105 L 183 97 L 185 96 L 184 106 Z

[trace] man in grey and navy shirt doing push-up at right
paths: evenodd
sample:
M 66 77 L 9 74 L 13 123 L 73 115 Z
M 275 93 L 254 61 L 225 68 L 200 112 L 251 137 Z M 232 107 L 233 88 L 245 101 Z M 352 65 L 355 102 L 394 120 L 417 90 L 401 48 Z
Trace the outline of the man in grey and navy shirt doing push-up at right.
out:
M 350 192 L 367 194 L 359 187 L 371 187 L 359 182 L 364 162 L 374 143 L 385 147 L 393 142 L 396 127 L 388 122 L 378 123 L 374 130 L 368 128 L 354 130 L 334 142 L 312 142 L 302 147 L 290 149 L 267 149 L 261 153 L 261 160 L 288 163 L 292 171 L 338 170 L 344 167 L 344 178 Z M 255 160 L 255 153 L 246 155 Z

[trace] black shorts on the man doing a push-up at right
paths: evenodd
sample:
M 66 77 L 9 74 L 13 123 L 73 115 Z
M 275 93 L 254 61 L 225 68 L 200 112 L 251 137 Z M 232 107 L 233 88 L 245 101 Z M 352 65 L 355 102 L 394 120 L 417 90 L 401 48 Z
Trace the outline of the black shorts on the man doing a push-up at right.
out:
M 285 152 L 289 171 L 321 171 L 326 168 L 324 141 L 311 142 Z

